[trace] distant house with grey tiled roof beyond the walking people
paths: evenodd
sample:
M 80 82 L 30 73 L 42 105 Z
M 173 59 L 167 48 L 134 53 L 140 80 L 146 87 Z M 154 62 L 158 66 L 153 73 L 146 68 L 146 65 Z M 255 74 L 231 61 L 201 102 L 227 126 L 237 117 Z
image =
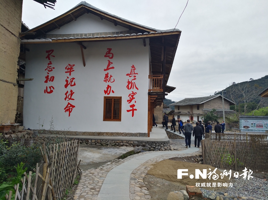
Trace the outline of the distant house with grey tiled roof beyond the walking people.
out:
M 219 116 L 219 120 L 223 116 L 222 95 L 185 98 L 170 105 L 175 106 L 174 116 L 176 119 L 180 118 L 184 122 L 187 119 L 190 121 L 200 121 L 201 117 L 212 109 L 216 109 L 215 114 Z M 230 110 L 230 105 L 235 105 L 235 103 L 224 97 L 224 112 L 226 116 L 235 113 L 235 111 Z

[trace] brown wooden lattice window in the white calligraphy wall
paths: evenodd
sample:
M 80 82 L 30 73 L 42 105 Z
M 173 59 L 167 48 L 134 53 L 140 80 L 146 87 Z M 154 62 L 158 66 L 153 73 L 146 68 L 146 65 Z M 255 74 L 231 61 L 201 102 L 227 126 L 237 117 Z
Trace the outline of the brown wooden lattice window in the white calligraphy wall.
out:
M 104 97 L 103 121 L 121 122 L 122 97 Z

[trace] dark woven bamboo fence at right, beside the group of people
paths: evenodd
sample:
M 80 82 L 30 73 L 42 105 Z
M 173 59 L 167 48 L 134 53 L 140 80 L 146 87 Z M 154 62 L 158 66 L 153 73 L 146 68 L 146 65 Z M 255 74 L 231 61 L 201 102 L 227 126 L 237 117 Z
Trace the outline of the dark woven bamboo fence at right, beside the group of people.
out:
M 268 171 L 268 135 L 210 133 L 201 145 L 206 165 Z

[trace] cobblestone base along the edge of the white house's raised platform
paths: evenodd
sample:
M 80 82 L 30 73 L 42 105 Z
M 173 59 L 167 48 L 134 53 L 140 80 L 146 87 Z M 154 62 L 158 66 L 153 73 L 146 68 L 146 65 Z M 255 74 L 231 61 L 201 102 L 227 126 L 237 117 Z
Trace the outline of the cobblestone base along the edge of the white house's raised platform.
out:
M 80 144 L 91 144 L 103 147 L 144 147 L 147 151 L 168 151 L 171 149 L 169 141 L 135 141 L 135 140 L 107 140 L 80 138 Z

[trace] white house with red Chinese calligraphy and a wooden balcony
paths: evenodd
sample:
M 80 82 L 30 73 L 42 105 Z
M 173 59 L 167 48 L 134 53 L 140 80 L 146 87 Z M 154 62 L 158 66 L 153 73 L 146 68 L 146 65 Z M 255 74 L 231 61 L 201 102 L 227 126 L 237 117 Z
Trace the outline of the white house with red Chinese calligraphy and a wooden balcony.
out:
M 181 31 L 158 30 L 82 1 L 22 35 L 24 126 L 70 135 L 147 137 Z

